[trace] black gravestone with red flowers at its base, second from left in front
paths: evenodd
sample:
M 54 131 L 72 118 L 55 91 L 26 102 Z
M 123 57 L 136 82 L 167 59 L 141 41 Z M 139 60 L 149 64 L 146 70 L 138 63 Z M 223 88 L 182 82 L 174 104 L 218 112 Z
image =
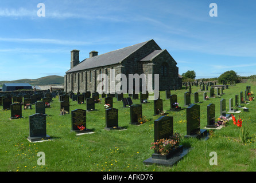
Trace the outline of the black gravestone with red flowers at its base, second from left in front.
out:
M 75 109 L 71 111 L 71 130 L 77 134 L 91 132 L 86 128 L 86 110 Z

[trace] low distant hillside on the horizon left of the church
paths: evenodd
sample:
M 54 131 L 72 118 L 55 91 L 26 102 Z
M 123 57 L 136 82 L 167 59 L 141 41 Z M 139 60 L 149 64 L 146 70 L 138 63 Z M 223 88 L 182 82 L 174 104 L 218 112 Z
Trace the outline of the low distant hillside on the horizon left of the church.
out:
M 64 77 L 59 75 L 49 75 L 38 79 L 18 79 L 14 81 L 0 81 L 3 83 L 29 83 L 30 85 L 64 85 Z

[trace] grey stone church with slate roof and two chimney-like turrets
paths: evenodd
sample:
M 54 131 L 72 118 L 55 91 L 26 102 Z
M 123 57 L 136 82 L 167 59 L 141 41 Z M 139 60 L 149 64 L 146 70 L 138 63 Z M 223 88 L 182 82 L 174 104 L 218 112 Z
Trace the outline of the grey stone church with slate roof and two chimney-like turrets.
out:
M 102 82 L 97 81 L 97 76 L 104 73 L 109 80 L 111 69 L 115 70 L 115 75 L 125 74 L 127 83 L 128 74 L 159 74 L 160 91 L 179 89 L 182 78 L 176 65 L 168 51 L 162 50 L 153 39 L 100 55 L 97 51 L 91 51 L 90 57 L 82 62 L 79 61 L 79 50 L 72 50 L 71 68 L 65 74 L 64 90 L 73 93 L 97 92 L 97 86 Z

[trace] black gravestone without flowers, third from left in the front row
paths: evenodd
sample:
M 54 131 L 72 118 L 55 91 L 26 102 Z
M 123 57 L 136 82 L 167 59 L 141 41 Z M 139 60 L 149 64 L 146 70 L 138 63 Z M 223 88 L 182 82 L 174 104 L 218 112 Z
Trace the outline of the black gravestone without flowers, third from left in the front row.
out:
M 112 97 L 111 97 L 112 98 Z M 110 108 L 106 110 L 106 130 L 118 130 L 118 109 Z

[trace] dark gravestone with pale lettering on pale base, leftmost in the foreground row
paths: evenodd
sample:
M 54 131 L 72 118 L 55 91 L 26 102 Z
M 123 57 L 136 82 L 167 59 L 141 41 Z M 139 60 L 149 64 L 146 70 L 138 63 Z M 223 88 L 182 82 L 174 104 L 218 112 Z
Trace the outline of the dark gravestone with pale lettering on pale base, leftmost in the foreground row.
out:
M 51 138 L 46 134 L 46 115 L 33 114 L 29 116 L 29 137 L 30 142 L 48 140 Z

